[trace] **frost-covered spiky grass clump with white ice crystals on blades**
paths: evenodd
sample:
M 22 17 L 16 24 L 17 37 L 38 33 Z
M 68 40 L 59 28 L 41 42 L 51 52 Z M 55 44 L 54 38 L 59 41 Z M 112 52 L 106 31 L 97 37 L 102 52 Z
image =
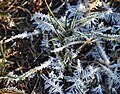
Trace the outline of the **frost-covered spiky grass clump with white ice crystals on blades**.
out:
M 16 77 L 17 81 L 47 67 L 51 72 L 41 77 L 49 94 L 118 94 L 120 14 L 113 12 L 104 0 L 97 1 L 95 8 L 102 7 L 102 12 L 90 12 L 89 3 L 79 0 L 74 6 L 66 3 L 68 10 L 61 18 L 55 18 L 47 6 L 52 16 L 35 13 L 31 18 L 37 25 L 33 33 L 5 40 L 40 34 L 41 51 L 50 57 L 49 64 Z

